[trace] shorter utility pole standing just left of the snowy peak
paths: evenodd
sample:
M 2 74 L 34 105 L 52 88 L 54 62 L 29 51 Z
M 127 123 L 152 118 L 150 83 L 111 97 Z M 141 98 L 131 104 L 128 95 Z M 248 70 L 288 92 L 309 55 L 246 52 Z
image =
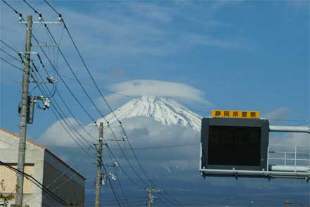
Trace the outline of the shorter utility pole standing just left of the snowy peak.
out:
M 102 172 L 101 172 L 102 145 L 103 145 L 103 123 L 100 123 L 98 146 L 96 146 L 96 149 L 97 149 L 97 178 L 96 178 L 95 207 L 100 207 L 100 190 L 101 190 L 101 181 L 102 181 Z

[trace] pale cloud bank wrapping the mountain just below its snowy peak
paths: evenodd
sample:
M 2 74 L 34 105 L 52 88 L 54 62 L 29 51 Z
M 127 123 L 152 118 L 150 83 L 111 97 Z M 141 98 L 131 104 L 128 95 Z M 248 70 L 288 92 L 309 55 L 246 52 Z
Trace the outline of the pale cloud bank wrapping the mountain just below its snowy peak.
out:
M 73 118 L 67 118 L 70 120 L 72 125 L 75 125 L 80 134 L 87 137 L 83 132 L 82 128 L 77 126 L 77 122 Z M 141 147 L 152 147 L 152 146 L 173 146 L 184 143 L 198 143 L 200 140 L 200 133 L 191 129 L 190 127 L 183 127 L 180 125 L 162 125 L 152 118 L 127 118 L 122 120 L 122 124 L 125 127 L 127 136 L 131 145 L 134 148 Z M 124 134 L 118 124 L 111 125 L 115 137 L 117 139 L 122 139 Z M 84 127 L 93 137 L 98 137 L 98 129 L 93 125 L 87 125 Z M 70 133 L 72 134 L 72 133 Z M 73 135 L 73 134 L 72 134 Z M 76 136 L 74 136 L 76 137 Z M 89 136 L 88 136 L 89 137 Z M 108 127 L 104 127 L 104 137 L 105 139 L 114 139 L 113 134 L 110 132 Z M 93 142 L 94 140 L 89 139 Z M 47 146 L 77 146 L 75 141 L 70 138 L 70 136 L 63 130 L 59 121 L 53 123 L 46 132 L 40 137 L 39 142 Z M 127 142 L 120 142 L 121 146 Z M 116 142 L 108 141 L 110 149 L 118 149 Z M 124 146 L 123 146 L 124 147 Z M 183 151 L 184 149 L 188 149 Z M 162 149 L 147 149 L 139 150 L 137 153 L 143 153 L 143 156 L 139 156 L 143 163 L 148 163 L 148 165 L 154 165 L 155 168 L 162 169 L 167 172 L 166 169 L 162 168 L 165 165 L 171 171 L 180 169 L 193 169 L 198 168 L 199 163 L 199 145 L 190 144 L 189 146 L 181 146 L 176 148 L 162 148 Z M 154 152 L 157 156 L 154 156 Z M 120 161 L 122 163 L 123 156 L 120 150 L 116 150 L 117 155 L 120 155 Z M 132 154 L 127 151 L 127 156 L 132 159 Z M 134 162 L 134 160 L 132 161 Z

